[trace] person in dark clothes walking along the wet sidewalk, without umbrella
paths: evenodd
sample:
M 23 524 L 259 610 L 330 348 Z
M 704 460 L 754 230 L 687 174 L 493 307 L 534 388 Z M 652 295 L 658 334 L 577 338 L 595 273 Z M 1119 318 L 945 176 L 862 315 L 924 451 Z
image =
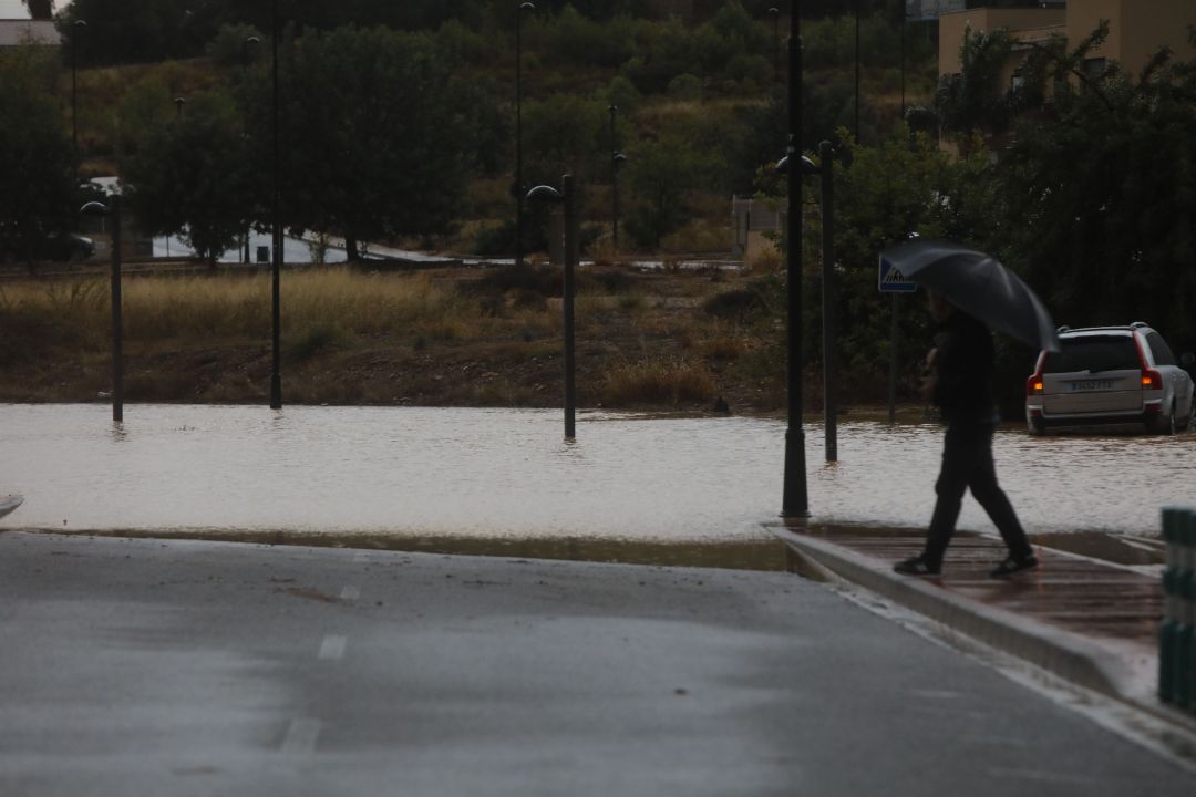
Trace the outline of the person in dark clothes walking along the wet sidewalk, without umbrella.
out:
M 938 293 L 928 292 L 927 302 L 942 337 L 939 347 L 927 355 L 930 375 L 923 390 L 941 411 L 947 431 L 926 547 L 919 556 L 898 562 L 893 570 L 907 576 L 933 576 L 942 570 L 942 557 L 968 489 L 1008 547 L 1006 559 L 989 575 L 1006 578 L 1031 570 L 1038 566 L 1038 558 L 1009 498 L 996 483 L 993 462 L 993 434 L 1001 419 L 993 398 L 993 335 Z

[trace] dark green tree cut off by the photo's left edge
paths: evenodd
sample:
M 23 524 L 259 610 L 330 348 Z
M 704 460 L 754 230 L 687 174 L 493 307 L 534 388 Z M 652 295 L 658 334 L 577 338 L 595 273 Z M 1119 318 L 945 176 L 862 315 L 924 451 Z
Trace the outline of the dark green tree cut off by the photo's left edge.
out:
M 0 56 L 0 246 L 32 264 L 35 243 L 66 231 L 74 213 L 71 137 L 42 91 L 41 48 Z

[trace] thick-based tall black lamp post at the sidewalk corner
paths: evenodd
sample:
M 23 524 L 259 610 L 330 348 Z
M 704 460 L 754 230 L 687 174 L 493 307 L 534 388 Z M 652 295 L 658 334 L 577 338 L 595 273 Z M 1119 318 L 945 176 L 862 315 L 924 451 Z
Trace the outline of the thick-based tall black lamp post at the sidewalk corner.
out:
M 789 14 L 789 142 L 791 167 L 786 176 L 789 208 L 788 237 L 788 429 L 785 433 L 785 477 L 781 515 L 808 517 L 806 493 L 806 435 L 801 429 L 801 5 L 793 0 Z

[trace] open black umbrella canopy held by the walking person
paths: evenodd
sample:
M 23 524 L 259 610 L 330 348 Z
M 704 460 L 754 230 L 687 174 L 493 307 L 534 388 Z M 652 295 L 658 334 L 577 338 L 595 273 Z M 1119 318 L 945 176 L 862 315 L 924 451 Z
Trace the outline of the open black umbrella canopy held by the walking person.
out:
M 911 241 L 880 257 L 989 329 L 1037 349 L 1060 350 L 1046 306 L 995 257 L 946 241 Z

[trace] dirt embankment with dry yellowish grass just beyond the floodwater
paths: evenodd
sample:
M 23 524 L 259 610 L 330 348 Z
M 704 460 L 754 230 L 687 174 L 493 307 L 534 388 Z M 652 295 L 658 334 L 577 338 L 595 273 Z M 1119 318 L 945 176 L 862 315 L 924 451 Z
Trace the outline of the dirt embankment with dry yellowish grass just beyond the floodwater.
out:
M 108 399 L 112 360 L 110 326 L 104 326 L 106 294 L 98 287 L 106 284 L 102 271 L 33 280 L 10 275 L 0 283 L 7 296 L 0 304 L 0 401 Z M 207 293 L 220 280 L 244 278 L 197 272 L 212 280 L 202 283 Z M 167 326 L 154 332 L 146 318 L 160 308 L 142 305 L 178 300 L 139 299 L 138 292 L 171 276 L 177 278 L 177 271 L 147 269 L 127 281 L 126 400 L 267 403 L 273 363 L 268 317 L 256 338 L 236 330 L 182 335 L 167 333 L 173 330 Z M 360 301 L 350 296 L 349 309 L 331 321 L 304 304 L 319 301 L 291 299 L 288 307 L 283 294 L 280 372 L 287 404 L 561 405 L 559 271 L 456 268 L 353 277 L 359 278 L 349 289 L 361 290 Z M 20 293 L 18 283 L 32 296 L 57 295 L 72 280 L 91 280 L 91 300 L 103 300 L 103 307 L 92 308 L 91 329 L 79 329 L 61 309 L 38 317 L 33 299 L 22 304 L 13 298 Z M 388 290 L 420 280 L 420 290 L 434 294 L 435 302 L 423 296 L 428 309 L 403 324 L 355 324 L 353 307 L 367 304 L 382 280 Z M 761 284 L 758 275 L 713 270 L 584 270 L 576 300 L 579 405 L 783 412 L 783 325 L 773 318 L 775 308 Z M 332 292 L 319 283 L 313 290 L 324 300 Z M 806 405 L 813 411 L 820 406 L 817 385 L 817 378 L 806 380 Z M 842 401 L 868 399 L 877 403 L 872 396 L 844 396 Z

